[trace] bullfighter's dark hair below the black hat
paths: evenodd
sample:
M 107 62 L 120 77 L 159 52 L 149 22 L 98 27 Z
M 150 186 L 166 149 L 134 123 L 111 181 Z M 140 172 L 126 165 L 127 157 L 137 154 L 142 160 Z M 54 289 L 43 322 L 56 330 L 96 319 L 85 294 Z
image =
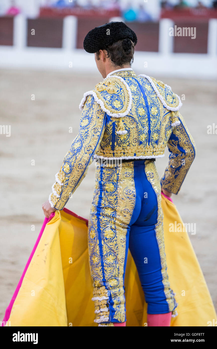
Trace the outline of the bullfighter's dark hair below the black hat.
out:
M 123 67 L 133 62 L 134 44 L 130 39 L 118 40 L 105 50 L 107 51 L 106 57 L 113 62 L 114 66 Z M 99 60 L 99 51 L 96 52 L 96 58 Z

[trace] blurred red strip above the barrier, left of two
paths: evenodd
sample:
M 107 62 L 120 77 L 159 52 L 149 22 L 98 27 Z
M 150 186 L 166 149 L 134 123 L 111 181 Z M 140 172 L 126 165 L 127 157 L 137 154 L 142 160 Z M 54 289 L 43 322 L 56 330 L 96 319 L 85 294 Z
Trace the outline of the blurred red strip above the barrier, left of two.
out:
M 82 7 L 78 8 L 56 8 L 56 7 L 40 7 L 40 17 L 65 17 L 65 16 L 76 16 L 79 18 L 111 18 L 121 16 L 121 12 L 117 9 L 106 10 L 103 8 L 85 9 Z

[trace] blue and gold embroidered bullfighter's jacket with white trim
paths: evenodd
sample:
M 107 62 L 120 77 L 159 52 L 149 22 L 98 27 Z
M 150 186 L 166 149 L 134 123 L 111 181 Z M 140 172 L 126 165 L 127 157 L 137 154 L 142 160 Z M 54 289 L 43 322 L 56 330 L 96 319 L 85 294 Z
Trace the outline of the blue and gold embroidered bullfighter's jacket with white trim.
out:
M 79 134 L 56 174 L 49 202 L 63 209 L 94 158 L 149 159 L 170 151 L 161 185 L 177 194 L 196 148 L 170 86 L 132 69 L 109 74 L 84 94 Z

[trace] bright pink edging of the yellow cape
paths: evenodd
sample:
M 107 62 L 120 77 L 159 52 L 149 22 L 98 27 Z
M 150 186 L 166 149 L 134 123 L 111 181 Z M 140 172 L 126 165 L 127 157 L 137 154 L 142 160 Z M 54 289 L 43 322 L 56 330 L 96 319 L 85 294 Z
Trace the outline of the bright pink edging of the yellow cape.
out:
M 170 200 L 171 202 L 173 202 L 172 199 L 169 198 L 169 196 L 166 196 L 163 192 L 161 192 L 161 194 L 162 194 L 163 196 L 165 196 L 166 199 L 168 199 L 168 200 Z M 72 211 L 68 210 L 67 208 L 63 208 L 63 211 L 64 211 L 65 213 L 68 213 L 68 214 L 70 214 L 70 215 L 72 215 L 72 216 L 74 216 L 74 217 L 77 217 L 77 218 L 79 218 L 79 219 L 85 221 L 86 224 L 88 225 L 88 220 L 87 220 L 86 218 L 83 218 L 83 217 L 80 217 L 80 216 L 76 215 L 75 213 L 73 213 Z M 13 294 L 13 297 L 11 298 L 11 301 L 10 301 L 10 303 L 9 303 L 7 309 L 6 309 L 5 317 L 3 318 L 3 321 L 2 321 L 1 326 L 5 326 L 6 322 L 8 321 L 8 319 L 9 319 L 9 317 L 10 317 L 11 309 L 12 309 L 12 307 L 13 307 L 13 305 L 14 305 L 14 302 L 15 302 L 15 299 L 16 299 L 16 297 L 17 297 L 17 294 L 18 294 L 18 292 L 19 292 L 19 290 L 20 290 L 20 288 L 21 288 L 21 284 L 22 284 L 22 282 L 23 282 L 23 278 L 24 278 L 24 276 L 25 276 L 26 270 L 28 269 L 28 267 L 29 267 L 29 265 L 30 265 L 30 262 L 31 262 L 31 260 L 32 260 L 33 254 L 35 253 L 36 248 L 37 248 L 37 246 L 38 246 L 38 244 L 39 244 L 41 235 L 42 235 L 42 233 L 43 233 L 44 230 L 45 230 L 46 224 L 47 224 L 48 222 L 50 222 L 54 216 L 55 216 L 55 212 L 53 212 L 53 213 L 49 216 L 49 218 L 45 218 L 45 220 L 44 220 L 44 223 L 43 223 L 43 225 L 42 225 L 42 227 L 41 227 L 39 236 L 38 236 L 38 238 L 37 238 L 37 240 L 36 240 L 36 243 L 34 244 L 33 250 L 32 250 L 32 252 L 31 252 L 31 254 L 30 254 L 30 256 L 29 256 L 28 262 L 26 263 L 25 269 L 23 270 L 23 274 L 22 274 L 22 276 L 21 276 L 21 278 L 20 278 L 20 281 L 18 282 L 18 285 L 17 285 L 17 287 L 16 287 L 16 289 L 15 289 L 15 292 L 14 292 L 14 294 Z M 123 325 L 123 326 L 124 326 L 124 325 Z

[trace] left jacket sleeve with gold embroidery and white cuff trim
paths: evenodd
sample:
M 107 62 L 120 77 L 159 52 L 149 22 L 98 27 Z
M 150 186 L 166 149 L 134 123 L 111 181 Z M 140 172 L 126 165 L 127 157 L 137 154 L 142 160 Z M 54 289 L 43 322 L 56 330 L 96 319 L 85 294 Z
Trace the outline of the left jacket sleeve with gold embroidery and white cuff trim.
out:
M 100 145 L 105 122 L 106 113 L 89 95 L 80 119 L 79 133 L 64 157 L 60 172 L 56 173 L 56 182 L 49 196 L 51 207 L 62 210 L 86 176 L 87 168 Z

